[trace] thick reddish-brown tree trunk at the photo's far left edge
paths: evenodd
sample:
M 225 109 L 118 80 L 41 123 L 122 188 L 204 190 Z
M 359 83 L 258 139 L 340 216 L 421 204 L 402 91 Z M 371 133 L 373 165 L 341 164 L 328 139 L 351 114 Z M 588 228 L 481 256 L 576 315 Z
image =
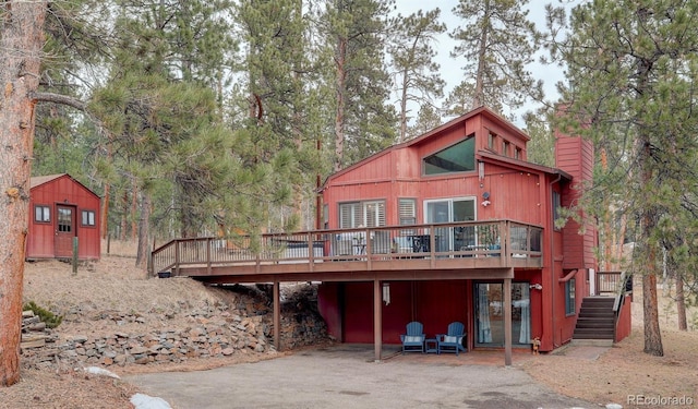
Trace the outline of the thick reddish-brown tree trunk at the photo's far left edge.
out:
M 20 380 L 24 245 L 46 1 L 0 8 L 0 386 Z

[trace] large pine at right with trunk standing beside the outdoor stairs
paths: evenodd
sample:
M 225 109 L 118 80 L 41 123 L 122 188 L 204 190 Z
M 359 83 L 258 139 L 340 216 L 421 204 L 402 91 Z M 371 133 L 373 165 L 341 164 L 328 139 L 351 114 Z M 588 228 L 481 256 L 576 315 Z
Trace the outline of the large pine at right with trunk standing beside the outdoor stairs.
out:
M 674 0 L 585 3 L 573 10 L 568 37 L 553 48 L 568 67 L 569 133 L 590 137 L 609 157 L 594 191 L 616 197 L 638 222 L 633 266 L 642 277 L 645 352 L 653 356 L 664 353 L 657 304 L 662 220 L 676 203 L 695 208 L 698 197 L 697 12 L 695 3 Z

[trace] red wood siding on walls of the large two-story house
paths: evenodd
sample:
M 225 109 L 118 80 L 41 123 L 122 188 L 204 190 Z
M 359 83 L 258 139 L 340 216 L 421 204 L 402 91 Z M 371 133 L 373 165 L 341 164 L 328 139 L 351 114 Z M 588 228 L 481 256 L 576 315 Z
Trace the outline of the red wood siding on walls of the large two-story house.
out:
M 579 236 L 574 221 L 562 230 L 552 225 L 552 190 L 561 193 L 562 204 L 569 206 L 579 197 L 582 181 L 591 180 L 593 151 L 581 139 L 557 141 L 558 169 L 534 166 L 501 155 L 500 147 L 490 149 L 488 135 L 506 139 L 510 148 L 518 147 L 526 158 L 528 136 L 489 110 L 477 109 L 416 140 L 393 146 L 328 178 L 323 190 L 328 206 L 328 227 L 338 227 L 338 204 L 342 202 L 384 200 L 386 224 L 399 225 L 398 199 L 417 200 L 417 222 L 423 224 L 426 200 L 465 199 L 476 201 L 478 220 L 512 219 L 541 226 L 544 267 L 540 270 L 515 270 L 515 281 L 541 284 L 532 290 L 531 336 L 541 338 L 541 350 L 550 351 L 568 341 L 577 316 L 565 314 L 565 285 L 559 281 L 568 268 L 578 268 L 577 300 L 588 294 L 585 268 L 595 268 L 593 249 L 595 230 L 587 226 Z M 476 161 L 483 173 L 474 171 L 422 176 L 422 157 L 476 135 Z M 512 155 L 512 152 L 509 155 Z M 571 181 L 570 181 L 571 178 Z M 482 205 L 482 194 L 490 204 Z M 582 215 L 583 216 L 583 215 Z M 373 284 L 323 284 L 321 305 L 330 334 L 346 342 L 373 342 Z M 383 306 L 383 341 L 399 342 L 410 321 L 424 324 L 431 336 L 445 330 L 448 323 L 461 321 L 469 334 L 474 329 L 473 284 L 454 281 L 390 282 L 392 302 Z M 336 302 L 338 305 L 330 305 Z M 326 303 L 326 304 L 325 304 Z M 472 339 L 469 337 L 472 347 Z

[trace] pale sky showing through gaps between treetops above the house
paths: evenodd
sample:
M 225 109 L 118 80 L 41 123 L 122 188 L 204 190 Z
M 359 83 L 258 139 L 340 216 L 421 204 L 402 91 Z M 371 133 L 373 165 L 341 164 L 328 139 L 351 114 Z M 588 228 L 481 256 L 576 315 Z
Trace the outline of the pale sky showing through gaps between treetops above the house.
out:
M 537 24 L 539 29 L 545 28 L 545 4 L 551 2 L 555 2 L 555 5 L 558 5 L 555 0 L 529 1 L 529 19 Z M 433 10 L 435 8 L 441 9 L 442 22 L 446 24 L 447 31 L 440 37 L 438 44 L 436 45 L 436 49 L 438 51 L 436 60 L 441 64 L 441 75 L 447 84 L 444 89 L 444 95 L 448 95 L 454 87 L 462 82 L 462 70 L 460 68 L 464 61 L 450 58 L 450 51 L 454 49 L 456 41 L 448 36 L 448 33 L 453 32 L 453 29 L 460 23 L 460 17 L 453 13 L 453 9 L 457 4 L 458 0 L 396 0 L 395 2 L 397 8 L 396 11 L 402 15 L 412 14 L 420 9 L 424 11 Z M 529 70 L 533 73 L 533 76 L 537 80 L 543 81 L 545 97 L 547 99 L 556 99 L 557 92 L 555 89 L 555 84 L 564 80 L 563 69 L 557 65 L 543 65 L 535 62 L 529 67 Z M 535 109 L 535 106 L 529 104 L 517 111 L 517 117 L 519 118 L 515 120 L 515 124 L 522 127 L 524 121 L 520 119 L 520 115 L 533 109 Z M 411 113 L 412 116 L 417 115 L 416 111 Z

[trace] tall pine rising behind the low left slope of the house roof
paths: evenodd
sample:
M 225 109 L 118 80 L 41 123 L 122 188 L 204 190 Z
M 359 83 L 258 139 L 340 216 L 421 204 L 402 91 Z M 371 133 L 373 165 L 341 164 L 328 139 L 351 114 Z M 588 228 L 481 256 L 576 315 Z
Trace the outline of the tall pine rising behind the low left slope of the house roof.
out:
M 395 108 L 388 104 L 385 69 L 392 0 L 330 0 L 321 34 L 333 53 L 334 168 L 363 159 L 395 141 Z M 347 149 L 346 149 L 347 148 Z

